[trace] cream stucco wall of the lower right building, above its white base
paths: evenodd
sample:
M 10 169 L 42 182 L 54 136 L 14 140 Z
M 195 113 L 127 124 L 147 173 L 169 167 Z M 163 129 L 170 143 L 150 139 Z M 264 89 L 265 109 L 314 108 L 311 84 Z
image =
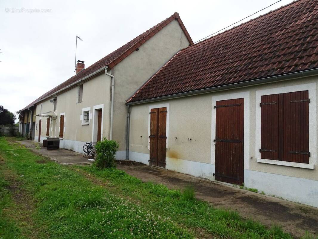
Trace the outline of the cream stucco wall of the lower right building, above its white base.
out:
M 129 151 L 149 154 L 149 108 L 168 105 L 169 122 L 167 122 L 167 124 L 169 124 L 169 135 L 167 135 L 168 145 L 166 156 L 174 159 L 214 164 L 213 131 L 215 131 L 215 122 L 213 122 L 212 118 L 213 111 L 215 110 L 213 109 L 213 98 L 215 100 L 221 100 L 222 98 L 230 98 L 229 94 L 234 94 L 234 98 L 247 96 L 245 98 L 245 105 L 247 103 L 249 104 L 248 111 L 247 113 L 245 112 L 245 121 L 249 118 L 249 123 L 247 125 L 248 128 L 245 127 L 245 134 L 247 135 L 245 135 L 244 138 L 245 145 L 248 144 L 248 148 L 244 149 L 248 151 L 248 154 L 245 154 L 244 169 L 318 180 L 318 169 L 304 169 L 256 162 L 260 155 L 257 154 L 259 144 L 255 143 L 256 137 L 258 137 L 256 127 L 259 125 L 259 118 L 256 118 L 256 107 L 259 107 L 256 106 L 259 104 L 259 101 L 256 102 L 257 91 L 268 90 L 266 94 L 271 94 L 271 92 L 274 92 L 274 88 L 284 89 L 284 87 L 290 87 L 289 89 L 291 89 L 291 91 L 308 89 L 312 92 L 312 95 L 314 93 L 314 98 L 310 97 L 311 103 L 309 105 L 309 111 L 313 114 L 317 108 L 316 83 L 317 77 L 310 77 L 240 88 L 237 90 L 176 98 L 149 104 L 132 105 Z M 301 87 L 301 85 L 304 84 L 305 86 Z M 310 122 L 310 141 L 312 141 L 313 144 L 310 148 L 311 157 L 309 158 L 309 163 L 317 166 L 317 149 L 315 147 L 317 141 L 317 119 L 315 115 L 312 115 L 315 119 Z M 192 140 L 189 141 L 189 138 Z M 247 142 L 247 140 L 249 142 Z M 250 160 L 251 157 L 252 160 Z

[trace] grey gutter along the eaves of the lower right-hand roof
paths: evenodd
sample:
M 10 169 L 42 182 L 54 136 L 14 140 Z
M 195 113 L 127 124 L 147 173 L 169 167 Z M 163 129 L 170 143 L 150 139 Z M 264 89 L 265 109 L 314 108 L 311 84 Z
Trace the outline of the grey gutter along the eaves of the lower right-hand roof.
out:
M 250 80 L 250 81 L 245 81 L 245 82 L 240 82 L 240 83 L 215 86 L 215 87 L 206 88 L 206 89 L 202 89 L 202 90 L 187 91 L 187 92 L 183 92 L 183 93 L 167 95 L 167 96 L 162 96 L 162 97 L 157 97 L 157 98 L 139 100 L 139 101 L 135 101 L 135 102 L 128 102 L 128 103 L 126 103 L 126 105 L 138 105 L 138 104 L 154 102 L 154 101 L 159 101 L 159 100 L 180 98 L 180 97 L 186 97 L 186 96 L 198 95 L 198 94 L 205 94 L 205 93 L 210 93 L 210 92 L 214 92 L 214 91 L 225 91 L 225 90 L 247 87 L 247 86 L 252 86 L 252 85 L 265 84 L 265 83 L 276 82 L 276 81 L 292 80 L 295 78 L 302 78 L 302 77 L 306 77 L 306 76 L 316 76 L 316 75 L 318 75 L 318 69 L 304 70 L 304 71 L 295 72 L 295 73 L 288 73 L 288 74 L 284 74 L 284 75 L 280 75 L 280 76 L 265 77 L 265 78 L 261 78 L 261 79 L 257 79 L 257 80 Z

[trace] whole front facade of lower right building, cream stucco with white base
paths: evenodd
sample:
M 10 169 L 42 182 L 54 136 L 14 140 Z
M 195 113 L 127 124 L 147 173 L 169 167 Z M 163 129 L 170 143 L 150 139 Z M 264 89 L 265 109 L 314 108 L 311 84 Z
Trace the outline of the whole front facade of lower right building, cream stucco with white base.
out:
M 318 206 L 318 201 L 314 199 L 318 196 L 317 82 L 318 76 L 314 76 L 131 105 L 129 159 L 149 164 L 149 112 L 151 108 L 167 107 L 166 168 L 214 180 L 213 106 L 218 100 L 244 98 L 245 186 L 257 188 L 259 192 L 264 191 L 268 195 L 275 194 L 284 199 Z M 260 158 L 260 96 L 302 90 L 309 91 L 309 167 L 314 169 L 303 168 L 307 165 L 297 163 L 282 166 L 257 162 Z M 273 180 L 280 180 L 281 184 Z M 292 185 L 285 184 L 288 181 Z M 285 190 L 282 191 L 281 188 Z M 295 190 L 300 190 L 297 192 L 299 195 L 289 196 Z

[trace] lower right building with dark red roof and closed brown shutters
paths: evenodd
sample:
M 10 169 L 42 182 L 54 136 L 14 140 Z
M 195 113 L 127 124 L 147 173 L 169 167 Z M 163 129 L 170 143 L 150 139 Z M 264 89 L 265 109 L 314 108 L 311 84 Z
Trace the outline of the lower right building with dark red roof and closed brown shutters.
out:
M 299 0 L 180 50 L 127 100 L 129 159 L 318 207 L 317 16 Z

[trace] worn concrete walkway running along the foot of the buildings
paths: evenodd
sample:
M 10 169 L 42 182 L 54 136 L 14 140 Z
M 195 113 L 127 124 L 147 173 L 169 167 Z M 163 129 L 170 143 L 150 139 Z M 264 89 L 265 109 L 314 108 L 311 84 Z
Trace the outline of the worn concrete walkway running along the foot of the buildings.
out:
M 35 143 L 34 141 L 18 142 L 30 148 Z M 62 164 L 91 163 L 82 154 L 66 149 L 47 150 L 41 148 L 34 151 Z M 278 224 L 295 237 L 303 236 L 305 230 L 318 235 L 318 208 L 132 161 L 118 161 L 117 168 L 140 178 L 144 182 L 152 181 L 166 185 L 168 188 L 182 189 L 185 185 L 192 184 L 198 199 L 208 201 L 213 206 L 230 208 L 245 218 L 258 220 L 268 226 Z

